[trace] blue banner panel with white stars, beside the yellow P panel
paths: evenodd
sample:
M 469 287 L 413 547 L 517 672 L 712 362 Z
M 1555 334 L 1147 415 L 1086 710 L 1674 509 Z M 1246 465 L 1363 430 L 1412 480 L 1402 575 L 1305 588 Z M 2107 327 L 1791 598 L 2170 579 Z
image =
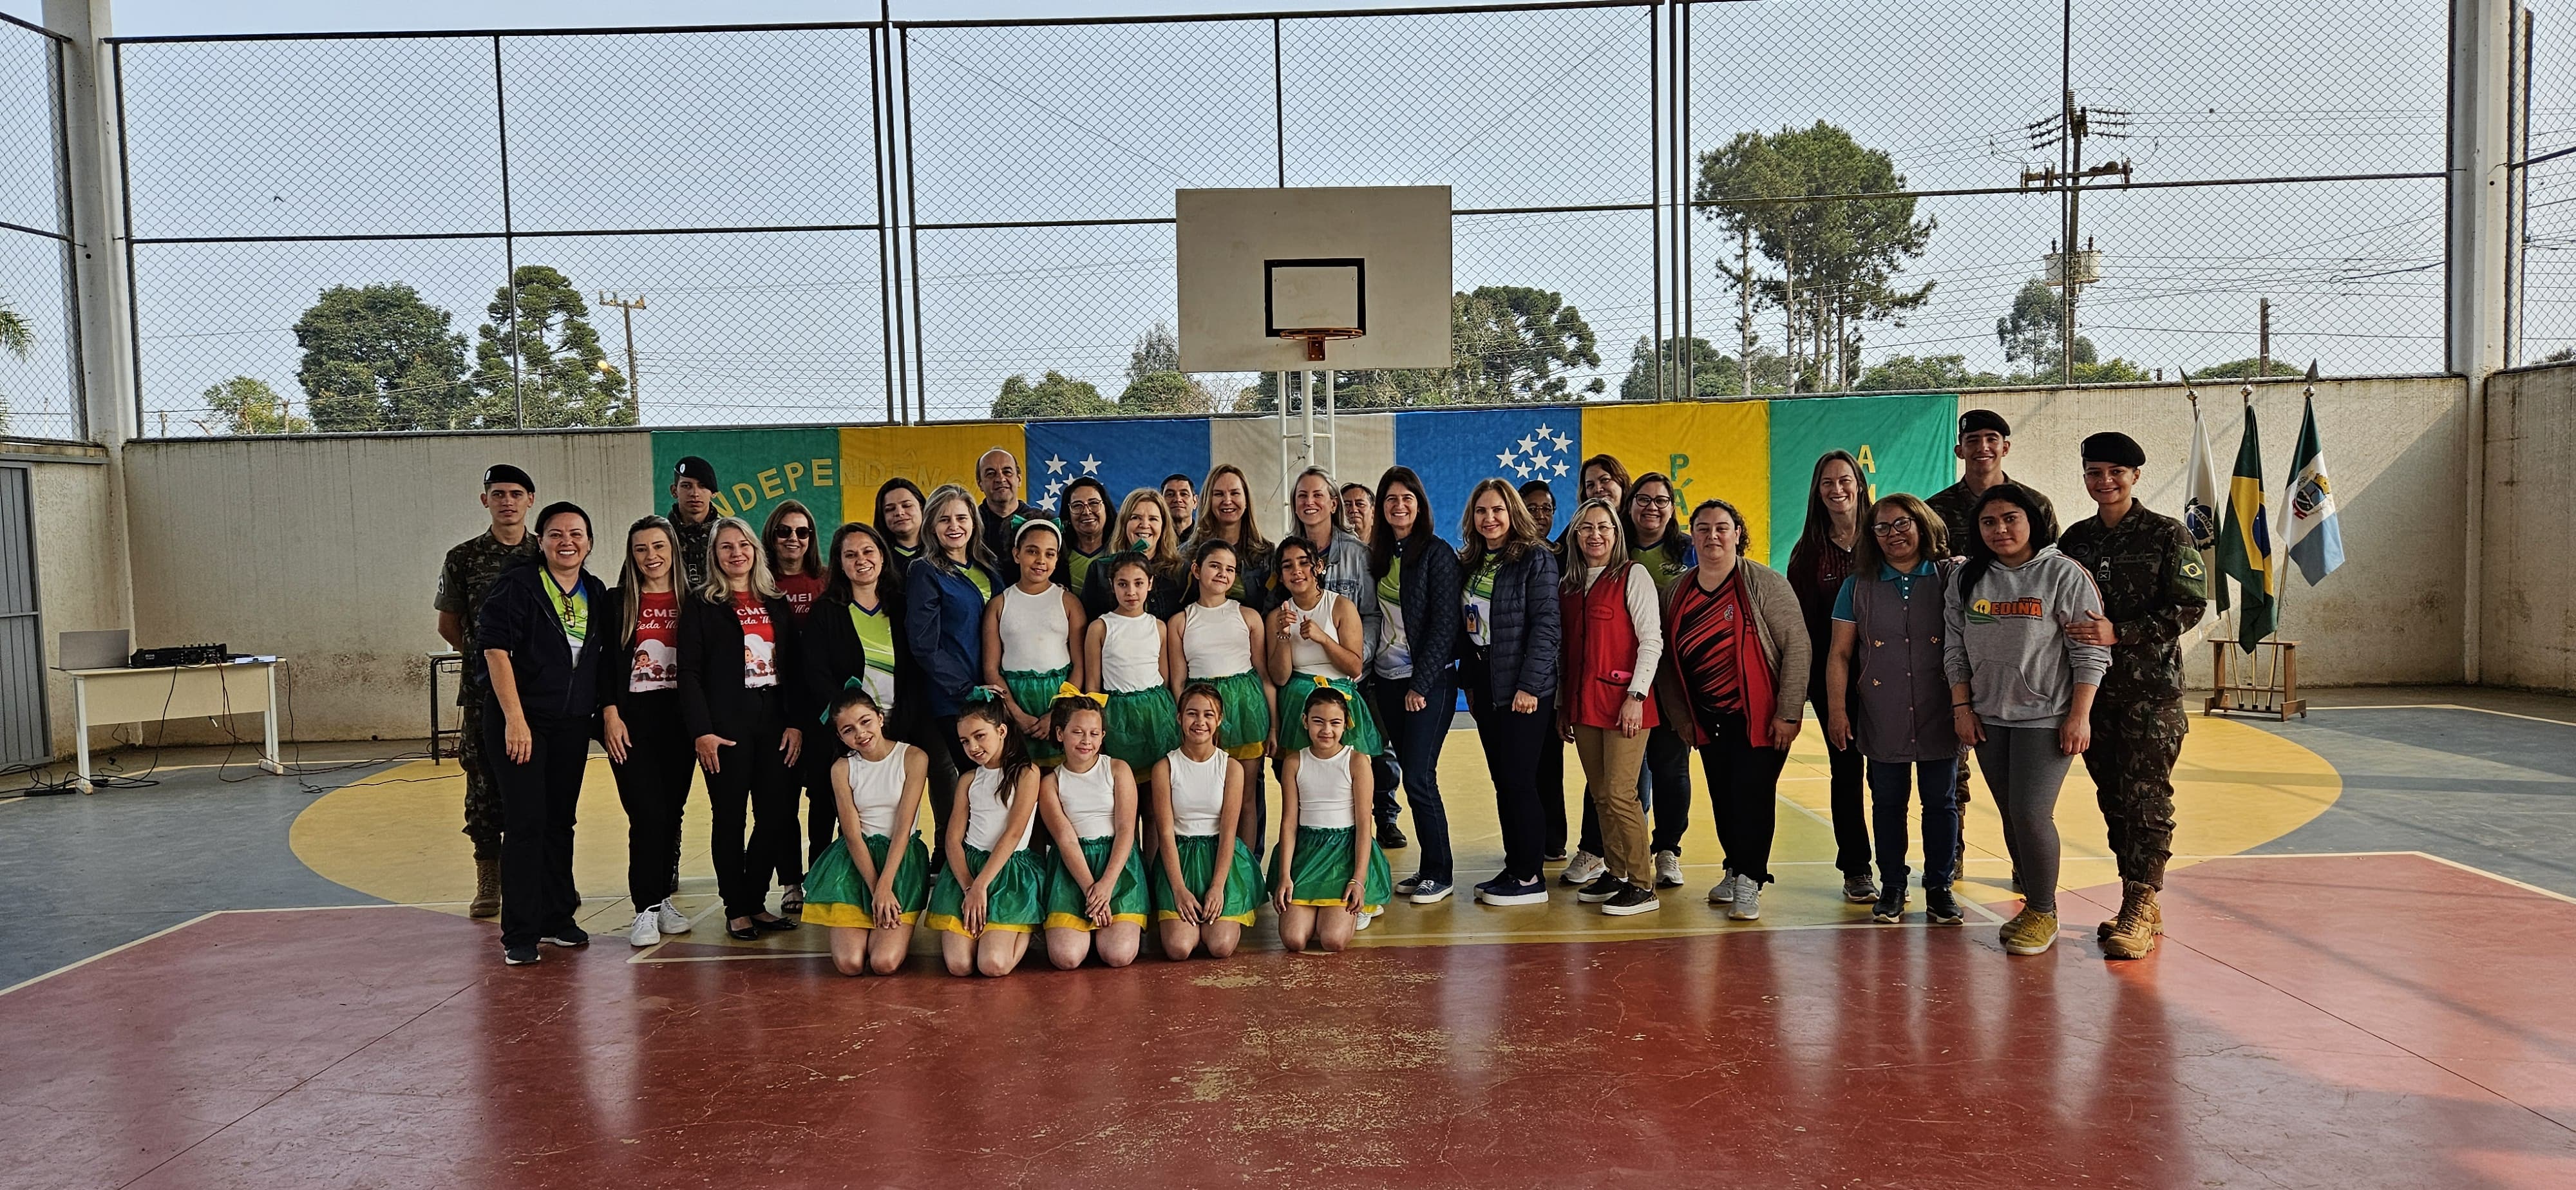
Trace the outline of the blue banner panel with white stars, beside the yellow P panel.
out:
M 1396 464 L 1422 477 L 1432 531 L 1458 543 L 1466 497 L 1502 477 L 1517 489 L 1546 479 L 1556 492 L 1556 525 L 1574 513 L 1584 464 L 1584 415 L 1569 407 L 1419 410 L 1396 415 Z M 1556 536 L 1556 525 L 1540 525 Z

